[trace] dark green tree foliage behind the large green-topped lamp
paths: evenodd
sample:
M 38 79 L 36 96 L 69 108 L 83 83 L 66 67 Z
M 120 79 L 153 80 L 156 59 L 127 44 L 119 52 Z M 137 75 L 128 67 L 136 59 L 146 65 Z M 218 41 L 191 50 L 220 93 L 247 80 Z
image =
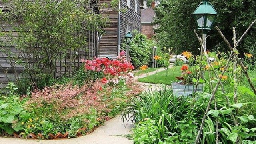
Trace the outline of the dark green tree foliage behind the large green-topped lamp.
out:
M 155 8 L 155 24 L 160 24 L 156 30 L 156 38 L 162 47 L 174 48 L 175 53 L 189 50 L 199 53 L 199 42 L 194 34 L 196 22 L 192 13 L 200 4 L 201 0 L 161 0 Z M 232 27 L 236 27 L 237 38 L 240 38 L 251 22 L 256 18 L 256 2 L 254 0 L 210 0 L 218 12 L 214 24 L 222 30 L 226 38 L 232 42 Z M 207 50 L 228 51 L 217 30 L 213 28 L 208 33 Z M 246 52 L 256 39 L 255 26 L 238 48 L 240 52 Z

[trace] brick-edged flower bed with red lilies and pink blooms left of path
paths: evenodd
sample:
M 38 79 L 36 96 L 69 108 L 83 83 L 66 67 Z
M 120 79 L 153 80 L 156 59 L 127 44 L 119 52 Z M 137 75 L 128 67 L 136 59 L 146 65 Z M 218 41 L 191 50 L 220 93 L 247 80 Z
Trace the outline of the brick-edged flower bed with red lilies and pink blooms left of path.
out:
M 129 73 L 134 67 L 125 60 L 125 55 L 113 61 L 82 61 L 78 77 L 66 78 L 66 82 L 42 90 L 34 88 L 23 96 L 17 94 L 18 87 L 10 82 L 8 93 L 0 96 L 0 133 L 35 134 L 48 139 L 50 133 L 68 132 L 68 137 L 74 138 L 119 114 L 129 98 L 140 93 Z

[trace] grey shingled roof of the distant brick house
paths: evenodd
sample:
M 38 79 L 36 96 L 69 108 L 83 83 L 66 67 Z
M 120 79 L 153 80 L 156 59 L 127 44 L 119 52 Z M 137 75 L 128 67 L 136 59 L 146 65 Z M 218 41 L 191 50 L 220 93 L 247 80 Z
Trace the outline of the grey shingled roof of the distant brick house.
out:
M 151 23 L 154 20 L 155 11 L 153 8 L 145 8 L 141 10 L 141 23 Z

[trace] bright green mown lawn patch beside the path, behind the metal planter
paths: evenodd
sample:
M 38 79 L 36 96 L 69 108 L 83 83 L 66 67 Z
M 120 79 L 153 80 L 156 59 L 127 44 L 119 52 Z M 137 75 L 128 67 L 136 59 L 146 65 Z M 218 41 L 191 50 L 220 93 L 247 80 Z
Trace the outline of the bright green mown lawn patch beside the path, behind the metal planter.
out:
M 170 85 L 172 82 L 176 82 L 176 77 L 181 75 L 180 71 L 181 66 L 176 66 L 173 68 L 168 68 L 168 70 L 164 70 L 162 72 L 158 72 L 151 76 L 138 79 L 139 82 L 146 82 L 152 84 L 167 84 Z M 208 77 L 208 72 L 205 74 Z

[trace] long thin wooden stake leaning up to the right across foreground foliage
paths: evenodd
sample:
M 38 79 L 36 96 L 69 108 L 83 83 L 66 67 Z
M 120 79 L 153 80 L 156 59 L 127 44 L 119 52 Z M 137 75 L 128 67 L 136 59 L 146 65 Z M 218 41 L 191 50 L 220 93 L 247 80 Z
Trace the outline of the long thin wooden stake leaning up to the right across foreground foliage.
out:
M 201 123 L 200 129 L 199 129 L 199 131 L 198 131 L 198 135 L 197 135 L 197 137 L 196 137 L 196 142 L 195 142 L 195 144 L 197 144 L 198 141 L 199 141 L 200 135 L 201 135 L 202 130 L 203 130 L 203 127 L 204 127 L 204 122 L 205 122 L 207 113 L 208 113 L 209 110 L 210 110 L 210 105 L 211 105 L 212 100 L 214 99 L 214 96 L 215 96 L 215 94 L 216 94 L 216 92 L 217 92 L 217 90 L 218 90 L 218 87 L 219 87 L 219 85 L 220 85 L 221 79 L 222 79 L 224 73 L 226 72 L 226 70 L 228 69 L 230 60 L 231 60 L 231 58 L 232 58 L 232 56 L 233 56 L 233 53 L 234 53 L 234 52 L 232 51 L 231 54 L 230 54 L 230 56 L 229 56 L 229 58 L 228 58 L 228 62 L 227 62 L 227 64 L 226 64 L 224 70 L 222 71 L 220 78 L 218 79 L 218 83 L 216 84 L 214 90 L 212 91 L 212 96 L 211 96 L 211 98 L 210 98 L 210 100 L 209 100 L 209 102 L 208 102 L 206 111 L 205 111 L 205 113 L 204 113 L 204 117 L 203 117 L 203 119 L 202 119 L 202 123 Z

